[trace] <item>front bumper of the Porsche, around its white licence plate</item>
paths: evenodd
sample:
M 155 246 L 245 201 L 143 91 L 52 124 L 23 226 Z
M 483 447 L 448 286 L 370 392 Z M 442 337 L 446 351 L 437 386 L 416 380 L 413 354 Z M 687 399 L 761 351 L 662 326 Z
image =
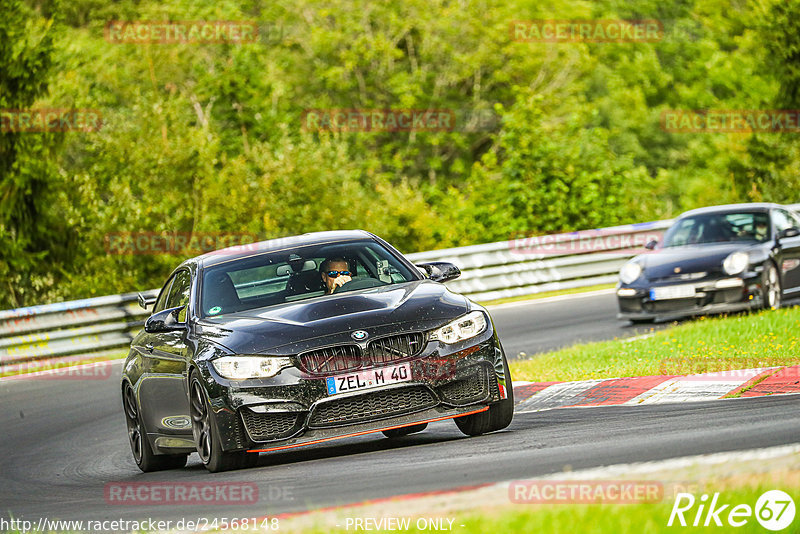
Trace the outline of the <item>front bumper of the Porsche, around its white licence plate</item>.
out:
M 738 285 L 736 284 L 738 281 Z M 693 285 L 695 294 L 689 298 L 654 300 L 651 289 L 670 285 Z M 673 317 L 707 315 L 749 310 L 763 302 L 760 276 L 727 277 L 695 283 L 662 283 L 637 287 L 618 286 L 618 319 L 658 320 Z

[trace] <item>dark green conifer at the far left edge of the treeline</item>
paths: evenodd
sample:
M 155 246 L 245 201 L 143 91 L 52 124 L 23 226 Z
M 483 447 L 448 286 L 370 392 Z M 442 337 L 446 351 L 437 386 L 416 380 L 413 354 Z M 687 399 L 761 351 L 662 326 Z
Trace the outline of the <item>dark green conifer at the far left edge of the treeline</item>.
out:
M 54 21 L 21 0 L 0 1 L 0 12 L 0 109 L 29 109 L 47 91 Z M 54 134 L 0 131 L 0 304 L 39 297 L 52 271 L 69 261 L 58 144 Z

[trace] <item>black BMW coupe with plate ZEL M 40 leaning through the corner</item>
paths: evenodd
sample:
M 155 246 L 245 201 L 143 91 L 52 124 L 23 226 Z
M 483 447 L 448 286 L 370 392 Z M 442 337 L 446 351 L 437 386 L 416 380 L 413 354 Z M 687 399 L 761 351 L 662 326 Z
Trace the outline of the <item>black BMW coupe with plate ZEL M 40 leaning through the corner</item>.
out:
M 142 471 L 212 472 L 258 453 L 455 419 L 467 435 L 514 410 L 484 308 L 362 231 L 321 232 L 183 262 L 131 344 L 122 401 Z

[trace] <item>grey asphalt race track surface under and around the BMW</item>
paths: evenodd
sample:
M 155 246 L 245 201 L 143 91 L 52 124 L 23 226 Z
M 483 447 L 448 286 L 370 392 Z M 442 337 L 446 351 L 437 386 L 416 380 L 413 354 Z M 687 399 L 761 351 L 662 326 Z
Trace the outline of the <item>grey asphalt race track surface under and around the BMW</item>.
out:
M 612 296 L 613 297 L 613 296 Z M 578 339 L 635 334 L 608 296 L 496 310 L 506 349 L 533 353 Z M 613 302 L 613 301 L 612 301 Z M 577 305 L 579 303 L 579 305 Z M 592 310 L 599 315 L 592 316 Z M 558 314 L 568 317 L 560 339 Z M 598 325 L 594 323 L 597 322 Z M 505 338 L 503 338 L 505 339 Z M 581 469 L 800 441 L 795 395 L 655 406 L 518 413 L 511 426 L 468 438 L 452 423 L 397 440 L 350 438 L 262 454 L 256 468 L 143 474 L 127 442 L 114 366 L 105 380 L 0 382 L 0 518 L 141 520 L 251 517 Z M 108 483 L 248 482 L 256 504 L 119 506 Z M 401 505 L 398 505 L 401 510 Z M 401 513 L 401 512 L 398 512 Z

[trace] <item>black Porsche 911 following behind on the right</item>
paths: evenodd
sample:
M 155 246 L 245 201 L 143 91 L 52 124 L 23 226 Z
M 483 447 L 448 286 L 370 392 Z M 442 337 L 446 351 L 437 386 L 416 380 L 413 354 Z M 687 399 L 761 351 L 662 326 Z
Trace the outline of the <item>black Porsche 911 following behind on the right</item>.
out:
M 620 319 L 778 308 L 800 296 L 800 216 L 777 204 L 688 211 L 620 269 Z

